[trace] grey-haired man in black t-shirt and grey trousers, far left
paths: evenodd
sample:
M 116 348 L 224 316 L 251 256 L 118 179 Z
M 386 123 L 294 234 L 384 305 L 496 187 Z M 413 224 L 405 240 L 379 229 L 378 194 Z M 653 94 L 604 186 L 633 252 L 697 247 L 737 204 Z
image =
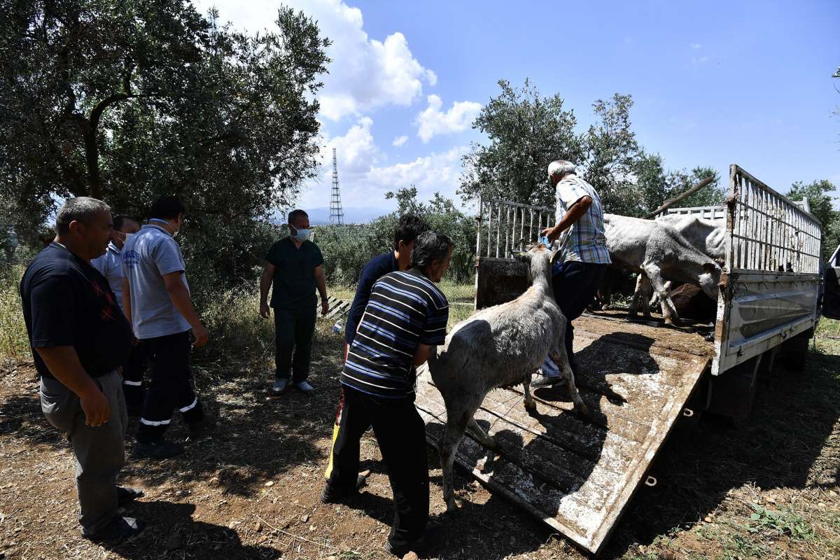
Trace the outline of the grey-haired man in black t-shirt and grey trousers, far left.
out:
M 143 495 L 116 484 L 128 423 L 118 368 L 133 337 L 108 280 L 90 264 L 113 233 L 110 209 L 95 198 L 71 198 L 55 230 L 55 241 L 20 282 L 24 322 L 41 378 L 41 410 L 66 432 L 76 455 L 81 535 L 113 541 L 138 534 L 144 523 L 117 513 Z

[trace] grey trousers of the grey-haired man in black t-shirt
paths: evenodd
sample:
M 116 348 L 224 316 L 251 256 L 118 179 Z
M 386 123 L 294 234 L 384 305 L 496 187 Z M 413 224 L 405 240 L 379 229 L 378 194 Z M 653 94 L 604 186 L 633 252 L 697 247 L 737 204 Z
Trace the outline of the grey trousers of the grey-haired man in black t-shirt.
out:
M 129 416 L 123 376 L 117 371 L 94 379 L 108 399 L 111 417 L 101 426 L 85 424 L 79 397 L 57 379 L 41 378 L 41 410 L 50 424 L 66 432 L 76 455 L 79 523 L 90 535 L 117 514 L 117 474 L 125 464 L 125 428 Z

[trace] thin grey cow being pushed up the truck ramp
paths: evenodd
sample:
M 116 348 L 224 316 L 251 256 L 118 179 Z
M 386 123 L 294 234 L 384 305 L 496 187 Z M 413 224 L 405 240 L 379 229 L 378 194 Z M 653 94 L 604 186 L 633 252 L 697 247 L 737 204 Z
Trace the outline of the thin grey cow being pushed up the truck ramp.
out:
M 429 373 L 446 405 L 446 430 L 438 442 L 438 450 L 444 469 L 447 510 L 456 507 L 452 464 L 465 430 L 486 447 L 496 447 L 495 440 L 473 419 L 491 390 L 521 383 L 525 408 L 536 411 L 537 403 L 529 390 L 531 375 L 551 356 L 564 373 L 575 411 L 589 416 L 575 388 L 575 375 L 566 356 L 566 319 L 554 301 L 551 255 L 542 243 L 519 254 L 519 259 L 528 264 L 531 283 L 528 290 L 513 301 L 476 311 L 459 322 L 446 337 L 444 346 L 429 356 Z

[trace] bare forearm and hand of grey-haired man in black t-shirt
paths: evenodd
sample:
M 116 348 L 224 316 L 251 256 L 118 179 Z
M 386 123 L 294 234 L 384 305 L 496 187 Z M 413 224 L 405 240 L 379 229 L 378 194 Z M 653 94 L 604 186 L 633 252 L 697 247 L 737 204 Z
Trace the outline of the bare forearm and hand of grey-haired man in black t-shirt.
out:
M 35 352 L 44 359 L 50 374 L 61 385 L 73 391 L 79 397 L 81 410 L 85 411 L 85 423 L 88 426 L 100 426 L 111 417 L 108 399 L 102 395 L 96 382 L 81 367 L 79 355 L 72 346 L 45 346 L 35 348 Z

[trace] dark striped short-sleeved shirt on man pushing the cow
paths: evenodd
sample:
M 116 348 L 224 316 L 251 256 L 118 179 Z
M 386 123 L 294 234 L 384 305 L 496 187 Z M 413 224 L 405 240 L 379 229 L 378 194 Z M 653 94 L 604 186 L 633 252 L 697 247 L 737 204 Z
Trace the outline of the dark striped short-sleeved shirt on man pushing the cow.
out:
M 443 344 L 447 322 L 446 296 L 421 272 L 382 276 L 370 292 L 341 383 L 377 397 L 413 400 L 417 344 Z

